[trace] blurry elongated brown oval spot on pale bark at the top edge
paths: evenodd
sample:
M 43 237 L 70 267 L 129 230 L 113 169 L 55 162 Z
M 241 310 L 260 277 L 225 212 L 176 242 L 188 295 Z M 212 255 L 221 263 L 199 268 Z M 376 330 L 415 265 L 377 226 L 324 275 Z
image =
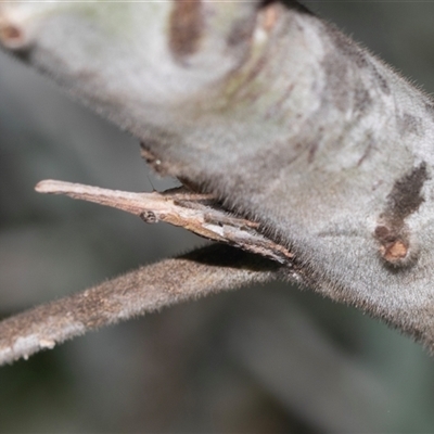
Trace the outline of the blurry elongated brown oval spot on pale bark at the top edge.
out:
M 169 48 L 180 61 L 194 54 L 204 27 L 201 0 L 175 0 L 169 21 Z

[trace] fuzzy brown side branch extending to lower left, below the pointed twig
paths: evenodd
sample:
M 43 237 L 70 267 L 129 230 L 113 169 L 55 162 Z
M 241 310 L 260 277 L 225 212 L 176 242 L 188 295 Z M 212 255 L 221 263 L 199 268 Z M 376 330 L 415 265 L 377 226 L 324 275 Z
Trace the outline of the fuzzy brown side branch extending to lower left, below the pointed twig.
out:
M 218 244 L 141 267 L 1 321 L 0 365 L 103 326 L 278 276 L 276 261 Z

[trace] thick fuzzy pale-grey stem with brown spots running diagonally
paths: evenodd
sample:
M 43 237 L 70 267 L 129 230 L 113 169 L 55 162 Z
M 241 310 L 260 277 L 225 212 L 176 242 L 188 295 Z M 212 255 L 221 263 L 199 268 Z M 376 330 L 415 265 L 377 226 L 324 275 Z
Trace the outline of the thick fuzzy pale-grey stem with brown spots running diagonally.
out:
M 434 348 L 434 102 L 367 50 L 290 1 L 5 2 L 0 38 L 289 276 Z

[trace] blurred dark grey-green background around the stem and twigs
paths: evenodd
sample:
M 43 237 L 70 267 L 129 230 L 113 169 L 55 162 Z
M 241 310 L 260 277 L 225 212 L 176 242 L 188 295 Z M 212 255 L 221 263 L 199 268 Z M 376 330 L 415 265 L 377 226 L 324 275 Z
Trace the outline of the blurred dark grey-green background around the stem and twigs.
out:
M 434 3 L 305 2 L 434 90 Z M 34 192 L 41 179 L 174 186 L 136 139 L 0 53 L 0 316 L 203 245 L 164 224 Z M 434 359 L 359 311 L 246 288 L 0 369 L 1 433 L 433 432 Z

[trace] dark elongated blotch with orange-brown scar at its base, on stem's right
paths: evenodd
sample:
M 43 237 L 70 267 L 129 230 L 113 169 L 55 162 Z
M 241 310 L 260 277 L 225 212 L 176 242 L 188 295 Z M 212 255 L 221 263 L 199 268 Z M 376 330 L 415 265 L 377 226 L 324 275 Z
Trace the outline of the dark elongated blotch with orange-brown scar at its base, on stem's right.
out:
M 398 179 L 387 196 L 386 209 L 380 215 L 374 237 L 380 242 L 380 254 L 388 265 L 408 266 L 417 258 L 414 248 L 410 248 L 405 218 L 417 212 L 424 201 L 421 190 L 426 179 L 426 164 L 421 163 Z

